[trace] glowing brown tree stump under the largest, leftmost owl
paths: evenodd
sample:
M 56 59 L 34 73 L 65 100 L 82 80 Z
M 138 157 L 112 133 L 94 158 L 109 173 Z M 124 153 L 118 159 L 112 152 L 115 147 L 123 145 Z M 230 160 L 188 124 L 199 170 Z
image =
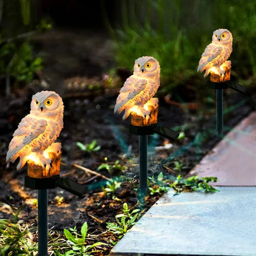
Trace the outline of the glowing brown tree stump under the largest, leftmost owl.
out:
M 57 155 L 54 152 L 49 152 L 49 157 L 52 159 L 52 167 L 49 170 L 46 170 L 45 167 L 42 167 L 33 160 L 28 160 L 28 176 L 36 179 L 51 178 L 55 175 L 60 174 L 60 158 L 61 152 Z

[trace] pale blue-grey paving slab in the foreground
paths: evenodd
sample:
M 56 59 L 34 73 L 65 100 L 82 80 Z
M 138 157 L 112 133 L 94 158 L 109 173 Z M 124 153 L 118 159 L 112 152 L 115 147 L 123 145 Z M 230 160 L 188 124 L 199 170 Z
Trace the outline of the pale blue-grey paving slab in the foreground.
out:
M 111 253 L 256 255 L 256 187 L 217 187 L 220 192 L 170 189 Z

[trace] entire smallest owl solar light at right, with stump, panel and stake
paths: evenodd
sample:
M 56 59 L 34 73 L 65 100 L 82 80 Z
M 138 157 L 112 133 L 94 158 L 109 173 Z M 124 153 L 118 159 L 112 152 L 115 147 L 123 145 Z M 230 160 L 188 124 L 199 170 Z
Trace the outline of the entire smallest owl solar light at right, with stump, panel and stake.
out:
M 231 88 L 239 93 L 245 93 L 246 87 L 230 81 L 233 37 L 227 29 L 217 29 L 213 32 L 212 43 L 204 50 L 197 71 L 203 72 L 204 77 L 210 73 L 210 88 L 216 90 L 216 130 L 218 138 L 223 131 L 223 89 Z

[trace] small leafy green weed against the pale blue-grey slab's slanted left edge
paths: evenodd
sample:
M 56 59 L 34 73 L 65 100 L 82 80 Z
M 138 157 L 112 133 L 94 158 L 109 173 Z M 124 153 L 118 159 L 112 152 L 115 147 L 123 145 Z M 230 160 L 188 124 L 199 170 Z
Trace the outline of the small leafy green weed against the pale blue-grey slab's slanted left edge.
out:
M 135 224 L 138 212 L 140 211 L 139 209 L 134 209 L 130 213 L 131 210 L 128 209 L 127 203 L 124 203 L 123 207 L 123 213 L 116 215 L 115 223 L 106 223 L 106 228 L 113 234 L 119 235 L 118 238 L 121 238 Z

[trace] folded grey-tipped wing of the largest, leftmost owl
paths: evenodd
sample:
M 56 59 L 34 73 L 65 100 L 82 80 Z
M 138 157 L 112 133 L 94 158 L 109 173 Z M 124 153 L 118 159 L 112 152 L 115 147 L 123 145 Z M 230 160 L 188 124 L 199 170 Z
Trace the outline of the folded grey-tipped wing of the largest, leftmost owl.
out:
M 18 129 L 13 133 L 13 139 L 9 145 L 6 162 L 18 157 L 16 155 L 25 145 L 30 144 L 35 138 L 42 134 L 47 126 L 45 119 L 37 119 L 30 115 L 25 116 L 19 123 Z

